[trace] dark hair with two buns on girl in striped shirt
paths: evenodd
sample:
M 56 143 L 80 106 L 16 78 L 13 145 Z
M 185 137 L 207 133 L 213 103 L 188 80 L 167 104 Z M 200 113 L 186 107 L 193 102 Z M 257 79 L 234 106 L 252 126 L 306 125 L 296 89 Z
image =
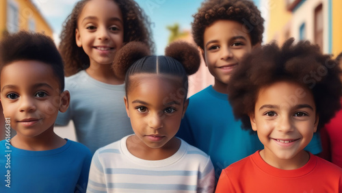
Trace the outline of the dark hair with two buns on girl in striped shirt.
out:
M 129 42 L 116 53 L 112 64 L 114 73 L 125 76 L 126 94 L 131 88 L 130 77 L 138 73 L 170 75 L 181 79 L 182 90 L 178 97 L 187 98 L 187 75 L 196 73 L 200 67 L 200 54 L 196 47 L 187 42 L 172 42 L 164 55 L 150 55 L 142 42 Z

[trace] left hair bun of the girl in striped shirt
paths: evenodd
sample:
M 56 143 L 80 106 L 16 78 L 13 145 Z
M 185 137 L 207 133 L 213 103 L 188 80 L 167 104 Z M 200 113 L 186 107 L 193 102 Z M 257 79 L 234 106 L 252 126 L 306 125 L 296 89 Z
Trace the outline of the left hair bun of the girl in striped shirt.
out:
M 150 55 L 150 49 L 146 44 L 136 41 L 128 42 L 117 51 L 111 68 L 116 77 L 124 79 L 128 68 L 146 55 Z

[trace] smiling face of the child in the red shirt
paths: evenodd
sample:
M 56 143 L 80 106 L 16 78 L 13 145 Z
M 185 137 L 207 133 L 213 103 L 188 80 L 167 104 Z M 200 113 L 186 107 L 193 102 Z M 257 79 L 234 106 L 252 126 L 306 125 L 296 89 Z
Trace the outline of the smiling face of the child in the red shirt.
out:
M 304 147 L 317 130 L 313 94 L 291 81 L 261 88 L 250 121 L 265 147 L 265 162 L 300 161 Z

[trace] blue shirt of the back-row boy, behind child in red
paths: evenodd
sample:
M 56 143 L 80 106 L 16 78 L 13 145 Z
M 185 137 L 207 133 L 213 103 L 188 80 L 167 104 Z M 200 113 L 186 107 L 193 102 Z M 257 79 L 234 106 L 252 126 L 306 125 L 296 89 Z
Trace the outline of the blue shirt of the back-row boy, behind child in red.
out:
M 235 120 L 228 95 L 212 86 L 189 98 L 177 136 L 210 155 L 216 179 L 222 169 L 263 149 L 257 134 L 241 129 L 241 121 Z M 306 150 L 321 152 L 318 135 L 314 134 Z

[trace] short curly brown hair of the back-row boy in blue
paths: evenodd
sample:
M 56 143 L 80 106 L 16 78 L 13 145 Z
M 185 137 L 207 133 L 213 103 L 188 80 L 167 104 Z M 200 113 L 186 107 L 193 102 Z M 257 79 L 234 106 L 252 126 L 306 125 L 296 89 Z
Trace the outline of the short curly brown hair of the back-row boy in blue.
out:
M 263 41 L 264 19 L 252 1 L 207 0 L 204 1 L 192 23 L 192 35 L 196 44 L 204 49 L 205 29 L 218 20 L 232 20 L 246 26 L 252 45 Z

